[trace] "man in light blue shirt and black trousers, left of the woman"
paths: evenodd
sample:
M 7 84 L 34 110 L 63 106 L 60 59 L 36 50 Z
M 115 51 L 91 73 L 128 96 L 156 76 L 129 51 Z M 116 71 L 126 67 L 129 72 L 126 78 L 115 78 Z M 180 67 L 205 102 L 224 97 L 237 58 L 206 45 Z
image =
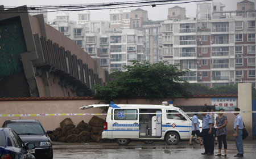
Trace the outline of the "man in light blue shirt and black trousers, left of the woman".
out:
M 214 151 L 214 141 L 213 141 L 213 134 L 212 134 L 212 127 L 213 121 L 212 117 L 207 114 L 207 109 L 203 109 L 203 126 L 202 126 L 202 133 L 201 136 L 204 138 L 204 153 L 207 155 L 213 155 Z

